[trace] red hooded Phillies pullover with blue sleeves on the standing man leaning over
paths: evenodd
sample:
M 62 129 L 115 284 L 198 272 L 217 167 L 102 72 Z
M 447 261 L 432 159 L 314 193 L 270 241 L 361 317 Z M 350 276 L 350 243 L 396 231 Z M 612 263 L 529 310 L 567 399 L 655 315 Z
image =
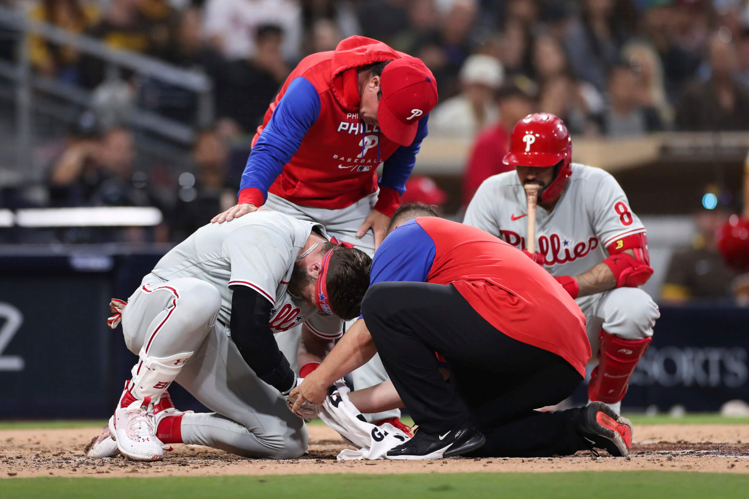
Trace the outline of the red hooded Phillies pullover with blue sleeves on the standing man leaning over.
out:
M 375 209 L 392 215 L 427 136 L 428 114 L 411 145 L 387 139 L 360 120 L 356 68 L 402 57 L 384 43 L 351 37 L 334 52 L 304 58 L 258 127 L 239 202 L 261 206 L 270 192 L 300 206 L 340 209 L 379 188 Z

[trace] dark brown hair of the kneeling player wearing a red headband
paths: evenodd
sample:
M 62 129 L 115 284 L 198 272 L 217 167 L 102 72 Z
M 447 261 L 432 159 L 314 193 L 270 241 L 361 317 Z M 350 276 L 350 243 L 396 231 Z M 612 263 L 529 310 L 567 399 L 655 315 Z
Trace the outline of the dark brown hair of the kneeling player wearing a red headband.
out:
M 330 307 L 345 321 L 359 317 L 364 294 L 369 288 L 372 258 L 357 248 L 339 247 L 333 243 L 321 244 L 321 247 L 323 253 L 333 249 L 326 282 Z

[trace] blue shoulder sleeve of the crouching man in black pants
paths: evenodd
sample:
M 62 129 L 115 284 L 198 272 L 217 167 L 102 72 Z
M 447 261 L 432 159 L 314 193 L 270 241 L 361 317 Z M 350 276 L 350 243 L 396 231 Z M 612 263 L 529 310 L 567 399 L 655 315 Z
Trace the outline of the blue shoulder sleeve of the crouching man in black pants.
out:
M 369 285 L 377 282 L 425 282 L 437 248 L 431 237 L 409 220 L 385 238 L 375 252 Z

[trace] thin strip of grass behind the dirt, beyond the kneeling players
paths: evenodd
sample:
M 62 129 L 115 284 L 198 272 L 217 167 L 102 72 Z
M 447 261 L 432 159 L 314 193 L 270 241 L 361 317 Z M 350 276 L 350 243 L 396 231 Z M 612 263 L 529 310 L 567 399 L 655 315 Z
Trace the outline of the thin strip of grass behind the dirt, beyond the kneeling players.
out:
M 671 417 L 668 414 L 646 416 L 644 414 L 625 414 L 636 425 L 745 425 L 749 424 L 749 417 L 724 417 L 717 413 L 693 413 L 684 417 Z M 413 425 L 410 417 L 404 417 L 403 423 Z M 63 429 L 88 428 L 104 426 L 106 420 L 30 420 L 30 421 L 0 421 L 0 430 L 7 429 Z M 324 424 L 321 420 L 312 420 L 313 425 Z

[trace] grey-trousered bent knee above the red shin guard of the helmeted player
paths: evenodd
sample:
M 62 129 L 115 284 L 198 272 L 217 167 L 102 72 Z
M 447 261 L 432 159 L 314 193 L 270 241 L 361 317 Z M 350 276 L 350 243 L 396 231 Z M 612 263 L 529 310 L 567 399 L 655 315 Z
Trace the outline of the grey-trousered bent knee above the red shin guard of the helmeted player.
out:
M 603 329 L 624 339 L 649 338 L 660 315 L 658 305 L 642 289 L 617 288 L 604 303 Z

